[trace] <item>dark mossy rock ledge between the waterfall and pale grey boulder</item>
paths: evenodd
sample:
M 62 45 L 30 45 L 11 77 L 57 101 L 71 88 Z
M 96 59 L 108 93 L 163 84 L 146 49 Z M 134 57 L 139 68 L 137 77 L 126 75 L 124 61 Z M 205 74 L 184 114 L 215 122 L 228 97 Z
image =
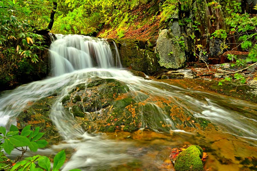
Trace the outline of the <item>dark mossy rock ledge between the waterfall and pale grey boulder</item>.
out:
M 154 53 L 154 42 L 131 39 L 109 39 L 109 44 L 115 55 L 114 41 L 121 58 L 122 66 L 145 74 L 154 74 L 158 62 Z

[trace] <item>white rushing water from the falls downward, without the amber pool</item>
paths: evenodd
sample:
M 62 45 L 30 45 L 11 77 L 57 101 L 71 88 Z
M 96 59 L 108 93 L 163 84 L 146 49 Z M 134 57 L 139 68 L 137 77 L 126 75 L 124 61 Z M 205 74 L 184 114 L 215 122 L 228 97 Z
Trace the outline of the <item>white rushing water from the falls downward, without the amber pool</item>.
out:
M 93 58 L 96 60 L 92 60 L 92 56 L 89 58 L 92 49 L 94 51 Z M 75 119 L 70 113 L 65 112 L 61 99 L 77 84 L 87 84 L 87 79 L 93 76 L 114 78 L 126 83 L 137 102 L 140 102 L 142 98 L 151 99 L 154 97 L 172 100 L 171 105 L 181 107 L 183 112 L 212 121 L 222 131 L 239 136 L 243 140 L 246 139 L 245 141 L 247 139 L 252 140 L 249 143 L 253 145 L 257 144 L 256 118 L 244 117 L 256 114 L 256 104 L 216 94 L 183 89 L 162 82 L 144 80 L 133 76 L 127 70 L 111 68 L 119 67 L 120 62 L 113 60 L 111 50 L 105 40 L 78 35 L 57 35 L 57 40 L 52 43 L 50 52 L 52 72 L 55 77 L 32 82 L 2 93 L 0 96 L 0 124 L 6 125 L 8 120 L 7 126 L 10 123 L 15 123 L 15 117 L 33 102 L 57 93 L 59 97 L 51 109 L 50 117 L 65 140 L 65 143 L 58 147 L 76 150 L 63 170 L 71 168 L 104 170 L 106 167 L 125 164 L 136 158 L 128 154 L 133 143 L 108 140 L 102 135 L 85 133 L 80 127 L 74 128 Z M 93 61 L 96 63 L 94 64 Z M 115 64 L 114 61 L 118 61 L 118 63 Z M 101 68 L 92 68 L 93 66 Z M 219 105 L 220 103 L 222 105 Z M 232 104 L 233 109 L 226 107 L 226 104 Z M 147 111 L 146 106 L 147 109 L 150 108 L 151 110 Z M 176 123 L 170 117 L 170 113 L 154 103 L 154 100 L 152 102 L 149 100 L 146 106 L 140 107 L 142 128 L 147 124 L 148 128 L 157 131 L 160 128 L 156 123 L 162 122 L 170 125 L 170 127 L 163 128 L 163 132 L 168 133 L 170 130 L 178 133 L 184 132 L 178 130 Z M 152 113 L 152 119 L 145 118 L 143 111 Z M 80 138 L 76 139 L 76 137 Z

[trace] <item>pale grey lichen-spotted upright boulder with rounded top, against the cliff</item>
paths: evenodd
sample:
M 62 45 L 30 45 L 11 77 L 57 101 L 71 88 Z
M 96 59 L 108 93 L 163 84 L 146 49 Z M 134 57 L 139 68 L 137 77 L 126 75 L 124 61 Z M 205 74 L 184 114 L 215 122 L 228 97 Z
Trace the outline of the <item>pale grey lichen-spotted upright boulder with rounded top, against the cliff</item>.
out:
M 159 64 L 165 68 L 182 68 L 186 62 L 184 50 L 178 43 L 178 38 L 167 29 L 161 30 L 156 44 Z

